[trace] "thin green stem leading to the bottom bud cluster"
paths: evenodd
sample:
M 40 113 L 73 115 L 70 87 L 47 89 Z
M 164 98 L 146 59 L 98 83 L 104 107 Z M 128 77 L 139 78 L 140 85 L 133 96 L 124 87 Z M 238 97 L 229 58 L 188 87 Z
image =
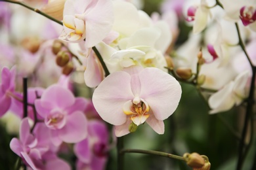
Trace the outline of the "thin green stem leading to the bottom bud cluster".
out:
M 173 158 L 175 160 L 181 160 L 181 161 L 186 161 L 185 158 L 182 156 L 177 156 L 174 154 L 169 154 L 166 152 L 159 152 L 155 150 L 141 150 L 141 149 L 123 149 L 121 150 L 121 153 L 139 153 L 139 154 L 149 154 L 149 155 L 156 155 L 156 156 L 163 156 L 167 158 Z

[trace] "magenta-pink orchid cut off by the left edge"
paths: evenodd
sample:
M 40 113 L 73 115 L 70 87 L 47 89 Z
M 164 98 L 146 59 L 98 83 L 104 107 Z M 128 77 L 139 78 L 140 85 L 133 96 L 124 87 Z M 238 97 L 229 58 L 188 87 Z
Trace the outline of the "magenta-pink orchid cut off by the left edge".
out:
M 7 67 L 3 67 L 0 84 L 0 117 L 11 107 L 12 99 L 9 93 L 13 93 L 15 90 L 15 76 L 16 67 L 12 67 L 11 70 Z

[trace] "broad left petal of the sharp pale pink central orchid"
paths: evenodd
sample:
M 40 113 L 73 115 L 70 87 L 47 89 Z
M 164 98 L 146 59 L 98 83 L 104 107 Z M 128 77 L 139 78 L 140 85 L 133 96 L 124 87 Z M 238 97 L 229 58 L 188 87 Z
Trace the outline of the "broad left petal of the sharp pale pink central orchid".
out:
M 118 71 L 110 74 L 95 89 L 93 105 L 103 120 L 118 126 L 126 122 L 123 104 L 133 98 L 131 76 Z

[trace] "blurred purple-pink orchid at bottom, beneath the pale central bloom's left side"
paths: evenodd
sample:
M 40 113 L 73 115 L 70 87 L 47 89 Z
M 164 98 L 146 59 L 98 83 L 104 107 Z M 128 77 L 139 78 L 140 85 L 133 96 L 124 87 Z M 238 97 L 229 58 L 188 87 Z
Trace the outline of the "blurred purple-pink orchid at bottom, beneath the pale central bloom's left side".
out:
M 108 129 L 104 122 L 88 122 L 87 139 L 75 144 L 74 152 L 78 158 L 77 169 L 104 169 L 108 150 Z

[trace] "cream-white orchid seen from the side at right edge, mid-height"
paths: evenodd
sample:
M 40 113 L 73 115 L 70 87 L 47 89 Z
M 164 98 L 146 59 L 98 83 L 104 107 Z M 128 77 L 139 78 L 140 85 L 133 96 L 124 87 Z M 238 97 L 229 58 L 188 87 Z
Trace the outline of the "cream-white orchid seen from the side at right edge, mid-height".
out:
M 236 76 L 236 79 L 226 84 L 221 90 L 209 98 L 210 114 L 224 112 L 234 105 L 240 105 L 247 97 L 245 86 L 249 77 L 249 71 L 244 71 Z

